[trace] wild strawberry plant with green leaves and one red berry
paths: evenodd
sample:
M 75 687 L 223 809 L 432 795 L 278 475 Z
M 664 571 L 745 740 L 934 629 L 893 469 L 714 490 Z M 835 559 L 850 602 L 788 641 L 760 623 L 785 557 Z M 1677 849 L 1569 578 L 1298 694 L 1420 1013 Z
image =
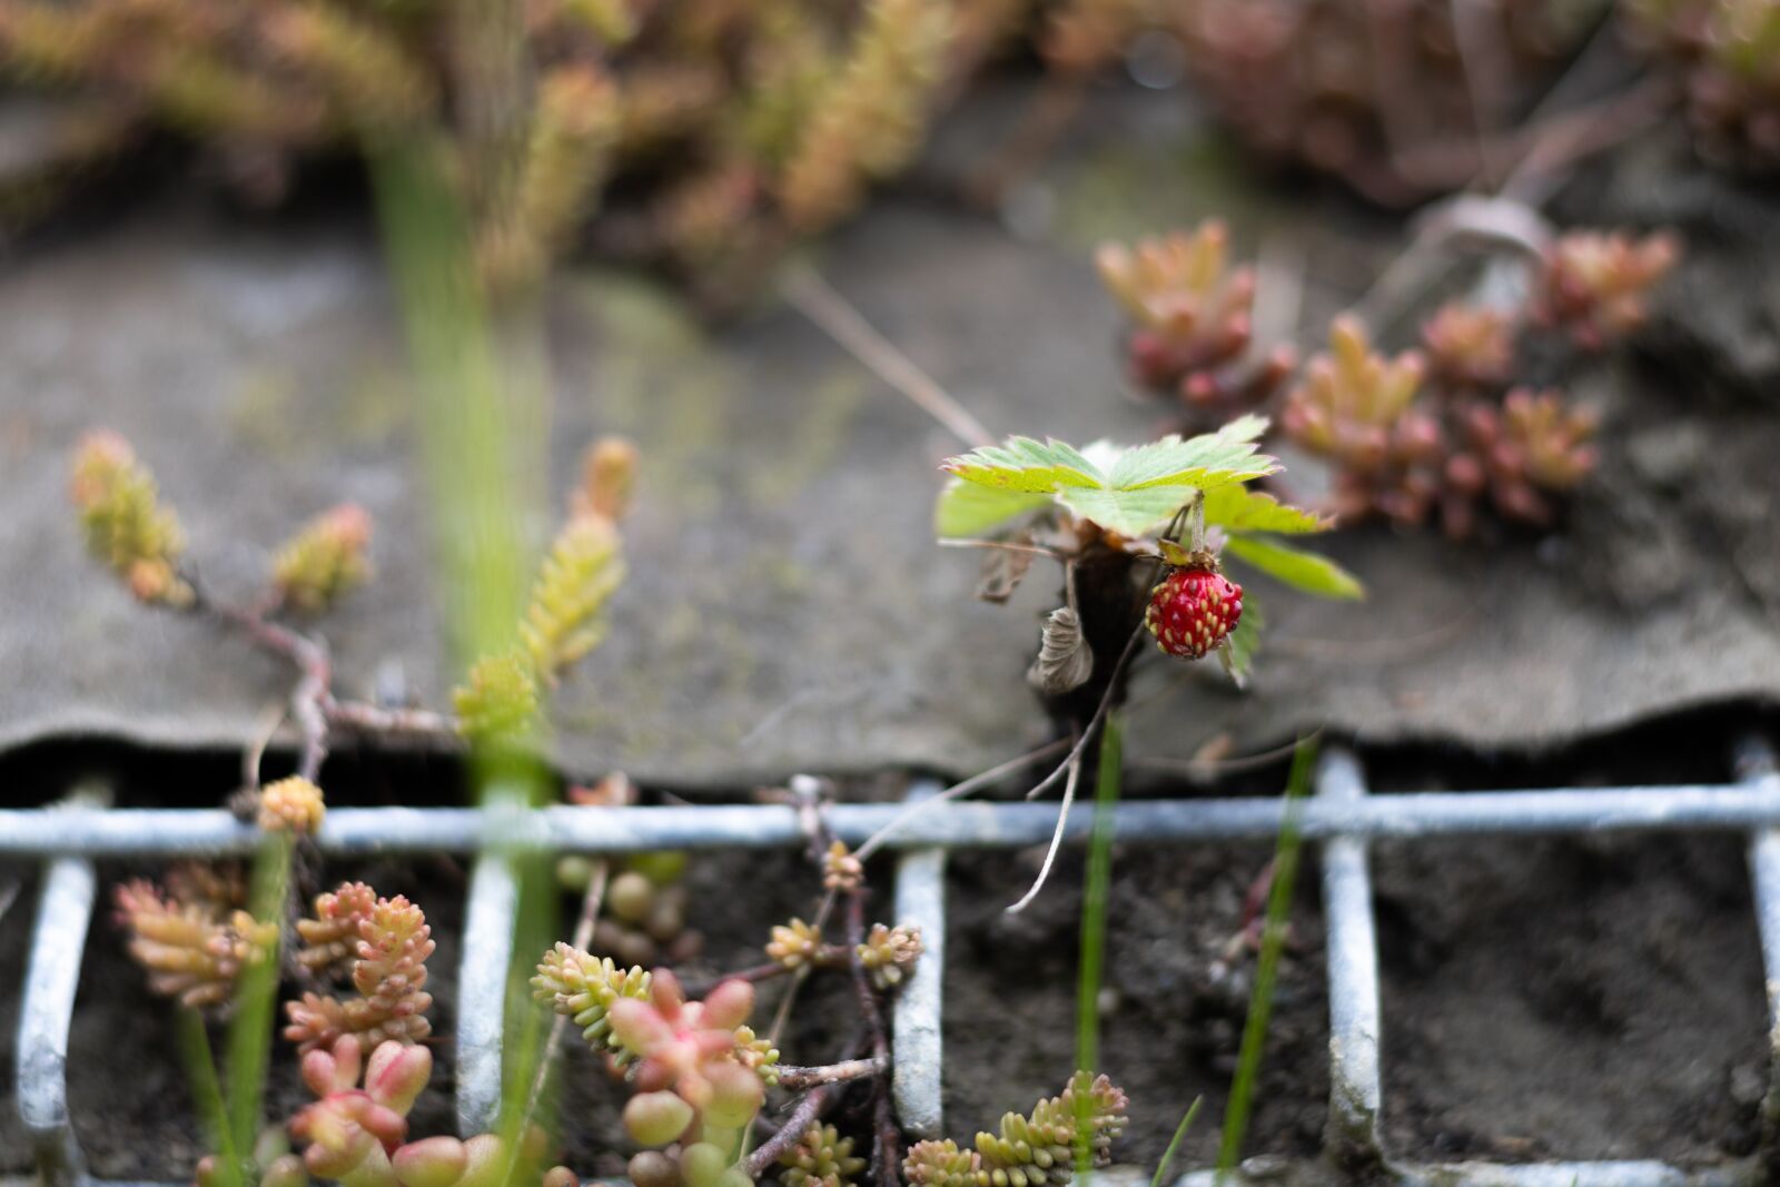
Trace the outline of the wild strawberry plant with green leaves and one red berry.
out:
M 1116 690 L 1127 641 L 1145 625 L 1164 653 L 1216 651 L 1241 683 L 1258 614 L 1253 596 L 1244 603 L 1242 587 L 1221 575 L 1226 557 L 1315 596 L 1362 594 L 1328 557 L 1283 543 L 1328 530 L 1328 518 L 1250 489 L 1280 470 L 1257 445 L 1266 431 L 1264 418 L 1242 416 L 1136 447 L 1009 438 L 943 464 L 952 479 L 934 527 L 991 548 L 990 594 L 1006 596 L 1032 555 L 1064 566 L 1066 602 L 1031 673 L 1047 698 L 1091 710 Z

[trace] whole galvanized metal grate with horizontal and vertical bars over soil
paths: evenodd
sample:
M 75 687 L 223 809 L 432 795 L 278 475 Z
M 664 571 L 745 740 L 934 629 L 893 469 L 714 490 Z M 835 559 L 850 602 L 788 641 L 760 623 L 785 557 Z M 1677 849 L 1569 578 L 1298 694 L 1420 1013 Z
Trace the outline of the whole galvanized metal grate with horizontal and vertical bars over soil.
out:
M 1369 795 L 1360 762 L 1331 751 L 1315 795 L 1298 806 L 1303 836 L 1323 845 L 1328 931 L 1330 1112 L 1324 1153 L 1331 1166 L 1388 1167 L 1390 1178 L 1426 1187 L 1744 1187 L 1766 1182 L 1780 1159 L 1780 1052 L 1769 1052 L 1769 1094 L 1755 1159 L 1709 1169 L 1663 1162 L 1408 1164 L 1380 1137 L 1378 943 L 1367 842 L 1378 836 L 1481 833 L 1737 831 L 1750 838 L 1750 870 L 1768 972 L 1769 1023 L 1780 1036 L 1780 772 L 1760 740 L 1739 746 L 1737 778 L 1725 785 L 1550 788 Z M 910 799 L 933 795 L 915 785 Z M 835 833 L 858 844 L 902 817 L 899 804 L 835 804 Z M 1040 845 L 1056 824 L 1054 804 L 951 803 L 902 819 L 895 916 L 922 927 L 927 954 L 894 1005 L 894 1096 L 904 1126 L 942 1132 L 940 1016 L 945 963 L 945 861 L 952 849 Z M 1205 844 L 1271 838 L 1287 813 L 1280 799 L 1139 801 L 1114 810 L 1114 836 L 1130 844 Z M 1091 813 L 1079 812 L 1068 840 L 1080 844 Z M 68 1034 L 80 954 L 93 918 L 98 858 L 246 854 L 258 835 L 222 810 L 107 810 L 87 794 L 41 810 L 0 812 L 0 856 L 46 863 L 36 934 L 25 970 L 18 1027 L 18 1112 L 50 1187 L 85 1176 L 68 1116 Z M 696 808 L 335 808 L 319 835 L 326 854 L 475 852 L 459 968 L 457 1121 L 486 1128 L 500 1096 L 500 1021 L 518 902 L 518 852 L 618 854 L 646 849 L 765 849 L 803 842 L 789 806 Z M 1257 1176 L 1260 1169 L 1257 1167 Z M 1246 1175 L 1235 1176 L 1248 1182 Z M 1178 1187 L 1212 1187 L 1210 1171 Z M 1258 1182 L 1258 1178 L 1255 1180 Z M 1267 1182 L 1278 1182 L 1271 1173 Z M 117 1185 L 112 1185 L 117 1187 Z

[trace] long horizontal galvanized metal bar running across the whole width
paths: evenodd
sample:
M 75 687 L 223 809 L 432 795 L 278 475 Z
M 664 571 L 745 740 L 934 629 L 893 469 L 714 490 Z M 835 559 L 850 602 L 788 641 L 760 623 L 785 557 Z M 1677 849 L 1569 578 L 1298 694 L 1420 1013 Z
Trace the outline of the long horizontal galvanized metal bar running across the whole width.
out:
M 858 844 L 899 812 L 901 804 L 837 804 L 828 819 L 842 840 Z M 1155 799 L 1121 803 L 1112 828 L 1125 844 L 1237 840 L 1274 836 L 1283 817 L 1283 801 L 1273 797 Z M 886 844 L 1016 849 L 1050 840 L 1056 822 L 1054 804 L 942 804 L 906 820 Z M 1082 844 L 1091 826 L 1086 813 L 1072 817 L 1064 838 Z M 488 844 L 486 828 L 473 808 L 333 808 L 317 844 L 333 856 L 472 852 Z M 1299 815 L 1307 840 L 1757 828 L 1780 828 L 1780 797 L 1748 783 L 1367 795 L 1356 804 L 1312 799 Z M 228 856 L 251 852 L 256 840 L 251 826 L 222 810 L 0 812 L 0 856 Z M 643 852 L 792 847 L 803 844 L 803 835 L 794 810 L 776 804 L 555 804 L 523 812 L 507 842 L 527 852 Z

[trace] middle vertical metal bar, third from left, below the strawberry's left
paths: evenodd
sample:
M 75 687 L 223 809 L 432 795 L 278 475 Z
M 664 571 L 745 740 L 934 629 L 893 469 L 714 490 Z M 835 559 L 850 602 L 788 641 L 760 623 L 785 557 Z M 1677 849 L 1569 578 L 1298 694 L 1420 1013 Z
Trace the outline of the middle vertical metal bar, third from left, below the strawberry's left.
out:
M 917 783 L 908 803 L 938 794 L 938 783 Z M 945 849 L 910 849 L 897 860 L 895 922 L 920 927 L 924 950 L 892 1007 L 890 1094 L 904 1130 L 915 1137 L 943 1137 Z

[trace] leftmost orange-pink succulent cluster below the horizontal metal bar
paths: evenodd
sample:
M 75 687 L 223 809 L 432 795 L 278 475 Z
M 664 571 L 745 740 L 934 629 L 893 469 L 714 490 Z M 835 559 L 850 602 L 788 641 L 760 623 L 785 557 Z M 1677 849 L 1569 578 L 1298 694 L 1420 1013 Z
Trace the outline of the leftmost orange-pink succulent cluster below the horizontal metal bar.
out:
M 117 886 L 117 922 L 148 988 L 194 1009 L 226 1005 L 240 973 L 278 945 L 278 924 L 256 922 L 244 900 L 240 879 L 198 867 L 176 868 L 166 888 L 148 879 Z

